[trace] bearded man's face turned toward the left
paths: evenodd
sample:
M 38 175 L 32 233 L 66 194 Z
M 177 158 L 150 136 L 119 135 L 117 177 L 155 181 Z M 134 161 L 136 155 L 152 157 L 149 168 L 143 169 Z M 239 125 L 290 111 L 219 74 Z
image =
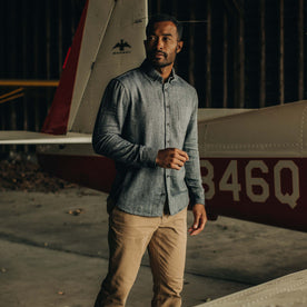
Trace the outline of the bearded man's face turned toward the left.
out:
M 156 68 L 174 65 L 176 55 L 182 49 L 178 41 L 176 26 L 171 21 L 159 21 L 154 24 L 152 32 L 145 41 L 147 59 Z

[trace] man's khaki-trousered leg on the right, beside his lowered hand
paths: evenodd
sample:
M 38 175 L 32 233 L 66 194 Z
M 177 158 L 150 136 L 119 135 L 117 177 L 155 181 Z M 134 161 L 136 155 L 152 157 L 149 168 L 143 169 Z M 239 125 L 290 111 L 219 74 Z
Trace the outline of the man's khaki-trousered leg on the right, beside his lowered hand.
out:
M 187 248 L 187 209 L 165 215 L 148 246 L 154 276 L 152 307 L 181 306 Z

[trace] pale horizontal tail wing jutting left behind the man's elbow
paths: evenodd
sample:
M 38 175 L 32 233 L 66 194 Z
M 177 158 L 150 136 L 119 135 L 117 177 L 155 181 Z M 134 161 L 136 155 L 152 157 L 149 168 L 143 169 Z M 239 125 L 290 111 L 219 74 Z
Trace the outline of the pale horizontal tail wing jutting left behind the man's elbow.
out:
M 31 131 L 0 131 L 0 145 L 90 143 L 90 133 L 68 132 L 55 136 Z

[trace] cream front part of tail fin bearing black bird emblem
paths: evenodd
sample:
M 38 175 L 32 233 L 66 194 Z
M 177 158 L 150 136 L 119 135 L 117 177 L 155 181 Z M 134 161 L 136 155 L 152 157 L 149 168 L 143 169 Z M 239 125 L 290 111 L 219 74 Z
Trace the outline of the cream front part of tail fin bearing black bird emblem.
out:
M 102 1 L 99 1 L 102 2 Z M 103 1 L 105 2 L 105 1 Z M 68 131 L 91 133 L 105 88 L 111 78 L 132 69 L 145 59 L 146 0 L 117 0 L 82 98 L 73 101 Z M 85 33 L 85 37 L 88 34 Z M 82 48 L 87 48 L 82 44 Z M 82 50 L 81 50 L 82 52 Z M 80 63 L 83 65 L 83 63 Z

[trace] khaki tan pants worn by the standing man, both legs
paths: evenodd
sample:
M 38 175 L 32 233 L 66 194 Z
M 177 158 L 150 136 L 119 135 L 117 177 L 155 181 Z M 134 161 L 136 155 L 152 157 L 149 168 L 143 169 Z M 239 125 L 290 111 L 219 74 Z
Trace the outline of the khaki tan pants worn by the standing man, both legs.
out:
M 141 217 L 115 208 L 109 218 L 109 271 L 95 307 L 125 306 L 146 248 L 154 276 L 151 306 L 181 306 L 186 245 L 187 209 Z

